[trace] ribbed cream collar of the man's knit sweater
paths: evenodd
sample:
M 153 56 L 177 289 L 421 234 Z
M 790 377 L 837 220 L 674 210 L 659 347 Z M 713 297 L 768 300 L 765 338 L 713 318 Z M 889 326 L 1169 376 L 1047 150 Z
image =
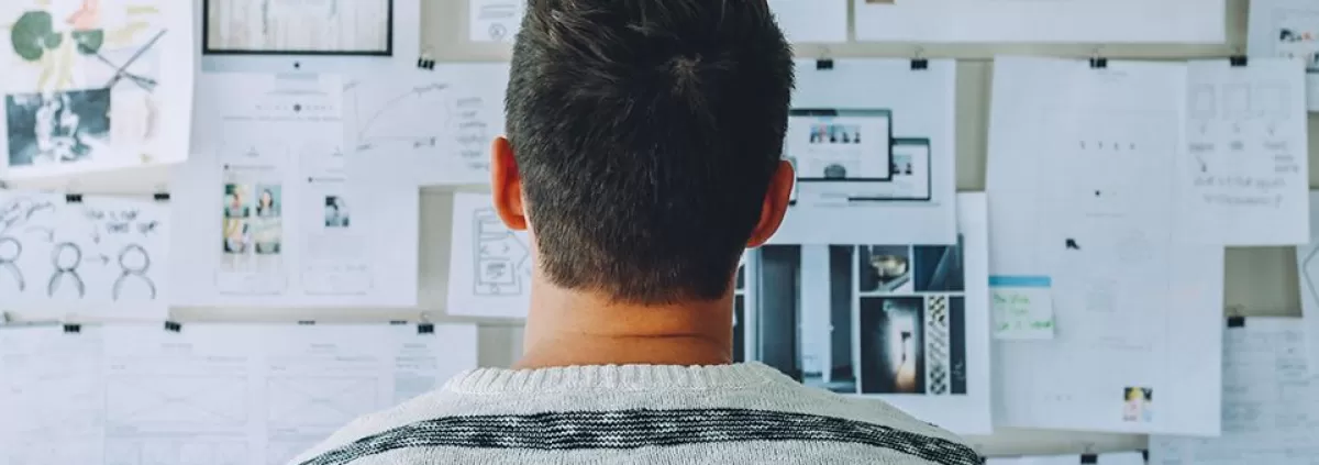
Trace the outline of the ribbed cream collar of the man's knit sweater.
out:
M 758 362 L 714 366 L 604 365 L 538 370 L 477 369 L 454 376 L 445 384 L 445 390 L 463 394 L 704 390 L 743 388 L 782 379 L 787 378 Z

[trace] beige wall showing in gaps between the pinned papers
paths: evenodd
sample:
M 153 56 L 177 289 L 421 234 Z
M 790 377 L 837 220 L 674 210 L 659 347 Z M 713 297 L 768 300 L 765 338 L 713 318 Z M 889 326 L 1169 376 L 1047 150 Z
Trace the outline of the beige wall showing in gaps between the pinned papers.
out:
M 838 0 L 835 0 L 838 1 Z M 1228 45 L 1217 46 L 1157 46 L 1126 45 L 1099 48 L 1108 58 L 1190 58 L 1225 57 L 1244 50 L 1245 0 L 1229 0 Z M 423 0 L 422 42 L 433 58 L 441 61 L 504 61 L 508 46 L 496 44 L 468 44 L 466 0 Z M 798 46 L 801 57 L 911 57 L 913 45 L 900 44 L 847 44 L 834 45 L 826 52 L 816 46 Z M 983 190 L 985 145 L 989 112 L 988 58 L 996 53 L 1049 54 L 1089 57 L 1093 45 L 1066 46 L 927 46 L 921 53 L 929 58 L 963 58 L 958 75 L 958 188 Z M 1314 135 L 1315 119 L 1311 119 Z M 1311 136 L 1311 144 L 1319 137 Z M 1314 148 L 1314 145 L 1311 147 Z M 1314 152 L 1314 149 L 1311 149 Z M 1311 177 L 1319 162 L 1311 161 Z M 421 244 L 421 305 L 431 320 L 443 320 L 446 272 L 448 269 L 448 238 L 451 190 L 426 190 L 422 194 Z M 1242 314 L 1299 316 L 1299 293 L 1294 252 L 1290 247 L 1229 248 L 1227 252 L 1227 303 L 1241 308 Z M 1212 309 L 1206 309 L 1212 310 Z M 417 312 L 372 310 L 243 310 L 243 309 L 179 309 L 175 318 L 183 321 L 214 320 L 401 320 L 415 318 Z M 470 320 L 464 320 L 470 321 Z M 514 321 L 481 321 L 480 362 L 484 366 L 505 366 L 521 353 L 521 325 Z M 992 437 L 976 437 L 973 443 L 988 454 L 1010 453 L 1080 453 L 1144 448 L 1144 436 L 1004 431 Z

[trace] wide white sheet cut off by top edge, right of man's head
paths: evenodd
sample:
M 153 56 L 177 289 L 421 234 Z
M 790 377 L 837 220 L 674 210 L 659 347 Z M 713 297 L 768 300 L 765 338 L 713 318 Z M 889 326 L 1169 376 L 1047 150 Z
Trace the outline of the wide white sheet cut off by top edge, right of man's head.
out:
M 1221 44 L 1224 0 L 853 0 L 856 40 Z

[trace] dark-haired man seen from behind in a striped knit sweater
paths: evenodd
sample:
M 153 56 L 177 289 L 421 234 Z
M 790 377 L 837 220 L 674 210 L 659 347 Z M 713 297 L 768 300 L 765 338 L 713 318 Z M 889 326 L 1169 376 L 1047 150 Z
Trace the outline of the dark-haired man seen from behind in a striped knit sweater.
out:
M 793 188 L 791 87 L 764 0 L 530 0 L 491 164 L 534 244 L 522 361 L 295 464 L 979 464 L 882 402 L 729 365 L 739 258 Z

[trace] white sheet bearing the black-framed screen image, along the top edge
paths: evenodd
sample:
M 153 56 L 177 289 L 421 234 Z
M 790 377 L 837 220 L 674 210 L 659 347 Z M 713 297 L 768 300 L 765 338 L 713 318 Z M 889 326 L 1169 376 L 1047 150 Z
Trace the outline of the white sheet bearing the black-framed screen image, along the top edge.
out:
M 357 16 L 379 16 L 379 7 L 375 4 L 385 0 L 226 0 L 227 4 L 240 4 L 233 8 L 219 5 L 222 1 L 211 1 L 212 5 L 226 7 L 239 12 L 224 12 L 216 8 L 215 15 L 207 15 L 202 8 L 197 8 L 197 24 L 227 24 L 228 38 L 212 41 L 219 45 L 226 42 L 236 46 L 253 48 L 251 42 L 233 37 L 235 30 L 278 29 L 281 25 L 303 24 L 305 30 L 288 32 L 293 38 L 284 38 L 285 44 L 266 45 L 265 48 L 302 48 L 319 46 L 348 50 L 373 49 L 379 46 L 380 18 L 364 20 Z M 260 7 L 270 3 L 273 15 L 262 15 Z M 421 22 L 422 0 L 388 0 L 390 7 L 389 54 L 379 55 L 346 55 L 346 54 L 306 54 L 272 50 L 262 54 L 252 53 L 210 53 L 202 54 L 202 70 L 214 71 L 243 71 L 243 73 L 397 73 L 401 70 L 417 69 L 417 59 L 421 55 Z M 357 5 L 360 4 L 360 5 Z M 348 7 L 360 8 L 364 15 L 342 15 Z M 360 24 L 363 29 L 353 30 L 352 24 Z M 207 33 L 220 36 L 216 28 L 208 26 Z M 223 29 L 223 28 L 222 28 Z M 348 33 L 342 33 L 348 32 Z M 310 40 L 314 36 L 334 36 L 335 44 L 326 44 L 321 40 Z M 202 48 L 203 37 L 198 34 L 195 48 Z M 257 44 L 257 48 L 261 45 Z

